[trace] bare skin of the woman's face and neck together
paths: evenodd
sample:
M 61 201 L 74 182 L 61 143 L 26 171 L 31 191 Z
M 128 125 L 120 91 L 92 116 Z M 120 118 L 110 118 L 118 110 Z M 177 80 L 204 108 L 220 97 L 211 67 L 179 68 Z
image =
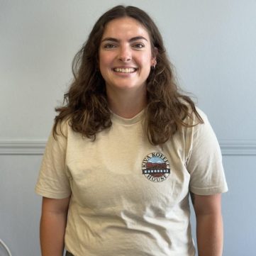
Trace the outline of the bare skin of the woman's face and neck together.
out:
M 119 116 L 132 118 L 147 104 L 146 80 L 155 64 L 154 51 L 148 31 L 135 19 L 117 18 L 107 24 L 99 48 L 99 69 L 106 81 L 109 107 Z

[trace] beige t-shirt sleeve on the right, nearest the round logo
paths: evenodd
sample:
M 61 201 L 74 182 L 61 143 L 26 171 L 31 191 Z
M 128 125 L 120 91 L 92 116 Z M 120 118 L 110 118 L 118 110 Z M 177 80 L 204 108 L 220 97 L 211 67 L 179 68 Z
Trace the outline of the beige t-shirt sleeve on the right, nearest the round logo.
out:
M 187 169 L 191 175 L 189 189 L 194 194 L 211 195 L 228 191 L 221 149 L 206 115 L 204 123 L 192 128 Z

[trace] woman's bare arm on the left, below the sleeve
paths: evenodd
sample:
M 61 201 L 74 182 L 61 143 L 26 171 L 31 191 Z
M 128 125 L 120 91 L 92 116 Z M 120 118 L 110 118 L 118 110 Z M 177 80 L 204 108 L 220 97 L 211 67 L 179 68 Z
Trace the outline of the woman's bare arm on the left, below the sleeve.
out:
M 69 197 L 49 199 L 43 197 L 40 221 L 40 245 L 42 256 L 62 256 L 67 223 Z

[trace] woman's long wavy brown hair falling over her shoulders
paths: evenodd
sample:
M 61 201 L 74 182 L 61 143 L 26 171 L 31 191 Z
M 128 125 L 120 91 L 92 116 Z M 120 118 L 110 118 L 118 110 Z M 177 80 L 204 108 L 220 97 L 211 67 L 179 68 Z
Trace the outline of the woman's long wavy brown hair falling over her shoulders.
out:
M 144 129 L 150 143 L 160 145 L 180 127 L 191 127 L 184 120 L 193 112 L 198 123 L 203 123 L 194 102 L 182 94 L 175 83 L 162 36 L 150 16 L 134 6 L 116 6 L 96 21 L 89 38 L 74 57 L 74 79 L 64 95 L 63 106 L 55 108 L 59 113 L 55 116 L 53 135 L 57 134 L 58 124 L 67 118 L 72 130 L 92 140 L 95 140 L 96 133 L 111 127 L 105 81 L 99 71 L 99 47 L 106 24 L 123 17 L 135 18 L 142 24 L 150 36 L 152 51 L 157 48 L 157 65 L 150 70 L 146 87 L 148 105 L 145 108 Z

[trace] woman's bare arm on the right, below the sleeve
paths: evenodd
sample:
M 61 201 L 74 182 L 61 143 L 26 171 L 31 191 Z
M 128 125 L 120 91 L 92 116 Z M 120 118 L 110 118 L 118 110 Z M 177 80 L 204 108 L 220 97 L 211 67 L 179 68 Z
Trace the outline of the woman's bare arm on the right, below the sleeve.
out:
M 199 256 L 221 256 L 223 223 L 221 194 L 199 196 L 191 194 L 196 213 L 196 238 Z

